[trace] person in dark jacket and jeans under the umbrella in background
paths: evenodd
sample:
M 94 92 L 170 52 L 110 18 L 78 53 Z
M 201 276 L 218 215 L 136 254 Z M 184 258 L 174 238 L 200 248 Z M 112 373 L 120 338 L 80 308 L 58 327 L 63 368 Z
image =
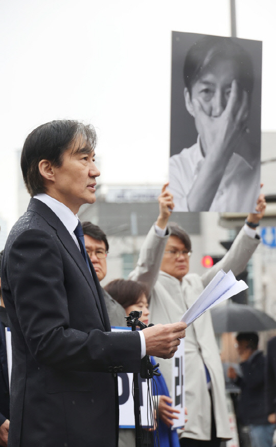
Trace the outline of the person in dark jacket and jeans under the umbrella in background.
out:
M 240 387 L 237 422 L 248 427 L 251 447 L 271 447 L 275 425 L 267 420 L 265 408 L 265 356 L 258 349 L 256 332 L 236 336 L 240 357 L 239 370 L 229 367 L 228 377 Z

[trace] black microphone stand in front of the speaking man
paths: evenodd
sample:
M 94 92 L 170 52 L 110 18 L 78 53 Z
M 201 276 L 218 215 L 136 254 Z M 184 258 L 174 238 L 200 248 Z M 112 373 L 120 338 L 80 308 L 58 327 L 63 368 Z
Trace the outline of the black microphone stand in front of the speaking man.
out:
M 131 326 L 131 330 L 136 330 L 136 326 L 139 326 L 140 329 L 145 329 L 147 326 L 139 321 L 139 318 L 142 315 L 142 310 L 132 310 L 128 317 L 125 317 L 127 320 L 127 326 Z M 153 326 L 152 324 L 150 326 Z M 160 375 L 159 372 L 155 371 L 159 364 L 154 366 L 151 365 L 149 356 L 145 355 L 141 362 L 141 377 L 143 378 L 152 378 L 153 375 Z M 142 430 L 140 424 L 140 390 L 139 390 L 139 381 L 138 381 L 138 373 L 133 373 L 133 403 L 134 403 L 134 420 L 135 420 L 135 447 L 143 447 L 143 438 L 142 438 Z

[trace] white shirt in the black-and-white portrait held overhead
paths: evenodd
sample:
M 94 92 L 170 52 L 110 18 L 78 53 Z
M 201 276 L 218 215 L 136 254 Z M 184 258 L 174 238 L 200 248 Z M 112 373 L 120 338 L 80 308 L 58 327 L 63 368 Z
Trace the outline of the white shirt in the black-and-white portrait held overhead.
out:
M 260 194 L 260 157 L 254 153 L 252 150 L 252 157 L 248 160 L 233 152 L 209 211 L 255 212 Z M 187 198 L 203 163 L 199 138 L 192 147 L 170 158 L 169 190 L 173 194 L 174 211 L 189 211 Z

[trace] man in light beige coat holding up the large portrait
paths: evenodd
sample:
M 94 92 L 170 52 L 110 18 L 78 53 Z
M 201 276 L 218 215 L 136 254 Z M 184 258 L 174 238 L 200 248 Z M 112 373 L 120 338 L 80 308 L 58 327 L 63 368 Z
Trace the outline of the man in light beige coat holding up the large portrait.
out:
M 143 281 L 150 290 L 151 323 L 179 321 L 183 313 L 198 298 L 203 288 L 220 270 L 241 273 L 260 237 L 256 233 L 265 211 L 261 194 L 255 214 L 249 214 L 231 249 L 202 276 L 189 273 L 191 241 L 177 225 L 168 225 L 173 210 L 173 196 L 164 185 L 159 201 L 159 215 L 141 248 L 132 280 Z M 253 228 L 252 228 L 253 227 Z M 171 390 L 170 360 L 158 359 L 166 383 Z M 219 350 L 206 311 L 188 329 L 185 339 L 185 403 L 188 422 L 180 434 L 182 446 L 219 446 L 222 439 L 231 438 L 225 403 L 225 387 Z

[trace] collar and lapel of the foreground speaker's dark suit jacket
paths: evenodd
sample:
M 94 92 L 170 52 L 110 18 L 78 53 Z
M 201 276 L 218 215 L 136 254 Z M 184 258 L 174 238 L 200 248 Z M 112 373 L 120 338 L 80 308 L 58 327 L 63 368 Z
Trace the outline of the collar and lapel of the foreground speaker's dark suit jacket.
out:
M 28 207 L 28 211 L 34 211 L 34 212 L 38 213 L 40 216 L 42 216 L 48 222 L 49 225 L 51 225 L 51 227 L 53 227 L 56 230 L 57 237 L 59 238 L 59 240 L 61 241 L 64 248 L 67 250 L 67 252 L 70 253 L 71 257 L 76 262 L 78 268 L 81 270 L 84 278 L 88 282 L 89 287 L 91 288 L 91 291 L 93 292 L 93 295 L 95 297 L 96 305 L 99 310 L 99 314 L 100 314 L 102 323 L 105 327 L 106 324 L 105 324 L 105 319 L 103 316 L 102 305 L 101 305 L 98 290 L 96 287 L 96 283 L 98 283 L 99 281 L 98 281 L 97 275 L 95 273 L 94 267 L 92 266 L 93 271 L 91 270 L 91 274 L 92 274 L 91 275 L 88 270 L 87 264 L 86 264 L 85 260 L 83 259 L 83 256 L 82 256 L 80 250 L 78 249 L 75 241 L 73 240 L 71 234 L 67 231 L 67 229 L 62 224 L 61 220 L 51 210 L 51 208 L 49 208 L 47 205 L 42 203 L 40 200 L 31 199 L 29 207 Z M 99 288 L 100 288 L 100 285 L 99 285 Z

